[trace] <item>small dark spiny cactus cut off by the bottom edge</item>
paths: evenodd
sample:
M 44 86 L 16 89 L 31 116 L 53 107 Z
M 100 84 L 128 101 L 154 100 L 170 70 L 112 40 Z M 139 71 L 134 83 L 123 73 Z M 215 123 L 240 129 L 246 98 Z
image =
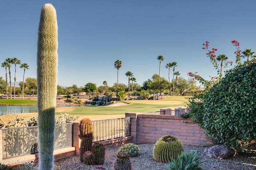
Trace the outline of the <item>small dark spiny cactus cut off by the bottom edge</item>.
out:
M 113 170 L 132 170 L 130 155 L 125 152 L 119 152 L 116 155 Z

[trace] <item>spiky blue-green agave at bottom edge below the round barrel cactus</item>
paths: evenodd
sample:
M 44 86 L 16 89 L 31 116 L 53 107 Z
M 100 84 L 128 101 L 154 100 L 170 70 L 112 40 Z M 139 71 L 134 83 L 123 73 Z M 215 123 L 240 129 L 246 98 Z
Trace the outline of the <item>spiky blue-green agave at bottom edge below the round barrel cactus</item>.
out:
M 201 163 L 196 153 L 183 152 L 177 160 L 172 159 L 167 170 L 201 170 L 202 168 L 199 167 Z

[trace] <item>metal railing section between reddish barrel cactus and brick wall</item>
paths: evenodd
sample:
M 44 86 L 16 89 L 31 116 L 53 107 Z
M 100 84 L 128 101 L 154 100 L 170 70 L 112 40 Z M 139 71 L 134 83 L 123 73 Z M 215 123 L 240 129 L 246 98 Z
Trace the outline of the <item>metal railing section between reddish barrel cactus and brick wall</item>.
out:
M 92 121 L 93 142 L 105 141 L 131 135 L 131 118 Z

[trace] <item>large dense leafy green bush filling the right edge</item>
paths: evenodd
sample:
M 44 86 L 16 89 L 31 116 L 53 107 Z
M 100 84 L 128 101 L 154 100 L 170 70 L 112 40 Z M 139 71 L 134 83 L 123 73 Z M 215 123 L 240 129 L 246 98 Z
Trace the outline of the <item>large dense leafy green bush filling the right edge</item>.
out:
M 219 84 L 202 94 L 190 112 L 219 144 L 238 151 L 256 141 L 256 60 L 228 70 Z M 196 103 L 198 102 L 198 104 Z

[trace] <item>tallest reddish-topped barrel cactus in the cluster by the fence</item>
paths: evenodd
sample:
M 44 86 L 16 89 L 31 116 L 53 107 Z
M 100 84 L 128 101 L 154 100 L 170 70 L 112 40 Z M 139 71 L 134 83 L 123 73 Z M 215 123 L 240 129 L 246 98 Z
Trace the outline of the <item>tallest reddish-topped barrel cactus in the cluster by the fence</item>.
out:
M 90 119 L 85 118 L 80 121 L 78 137 L 82 139 L 80 144 L 80 161 L 83 162 L 84 152 L 92 149 L 93 127 Z

